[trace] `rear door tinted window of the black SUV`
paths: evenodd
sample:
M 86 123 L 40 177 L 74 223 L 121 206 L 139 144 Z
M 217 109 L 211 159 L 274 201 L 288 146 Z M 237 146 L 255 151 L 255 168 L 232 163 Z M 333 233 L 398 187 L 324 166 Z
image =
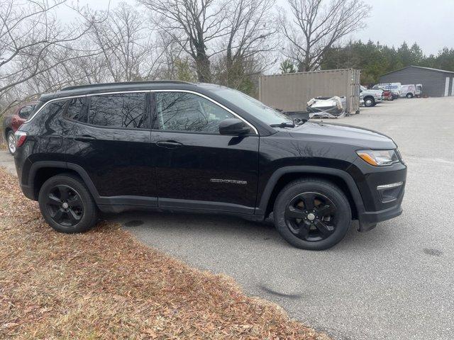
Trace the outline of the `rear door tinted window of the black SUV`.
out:
M 88 123 L 111 128 L 143 128 L 145 94 L 90 97 Z

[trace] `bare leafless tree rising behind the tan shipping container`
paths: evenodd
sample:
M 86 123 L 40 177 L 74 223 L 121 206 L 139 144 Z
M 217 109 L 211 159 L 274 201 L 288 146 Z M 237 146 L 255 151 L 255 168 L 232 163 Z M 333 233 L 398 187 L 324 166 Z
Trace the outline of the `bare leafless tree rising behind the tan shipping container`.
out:
M 292 20 L 279 16 L 282 33 L 289 41 L 287 57 L 298 71 L 319 67 L 325 52 L 338 40 L 365 27 L 370 6 L 358 0 L 288 0 Z

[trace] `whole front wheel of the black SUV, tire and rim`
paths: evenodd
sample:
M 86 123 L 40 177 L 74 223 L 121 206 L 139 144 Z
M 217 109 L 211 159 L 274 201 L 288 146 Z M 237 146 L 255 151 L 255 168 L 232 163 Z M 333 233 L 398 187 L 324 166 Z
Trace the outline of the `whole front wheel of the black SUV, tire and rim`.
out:
M 352 221 L 350 204 L 343 191 L 330 181 L 316 178 L 288 183 L 277 196 L 273 212 L 279 234 L 289 244 L 308 250 L 323 250 L 338 244 Z

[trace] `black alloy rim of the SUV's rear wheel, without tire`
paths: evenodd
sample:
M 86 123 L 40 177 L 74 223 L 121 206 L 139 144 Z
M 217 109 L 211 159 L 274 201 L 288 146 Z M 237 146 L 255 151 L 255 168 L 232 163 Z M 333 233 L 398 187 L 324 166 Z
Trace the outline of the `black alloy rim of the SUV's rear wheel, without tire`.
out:
M 52 220 L 64 227 L 74 227 L 84 215 L 84 205 L 79 193 L 63 184 L 50 190 L 45 204 Z

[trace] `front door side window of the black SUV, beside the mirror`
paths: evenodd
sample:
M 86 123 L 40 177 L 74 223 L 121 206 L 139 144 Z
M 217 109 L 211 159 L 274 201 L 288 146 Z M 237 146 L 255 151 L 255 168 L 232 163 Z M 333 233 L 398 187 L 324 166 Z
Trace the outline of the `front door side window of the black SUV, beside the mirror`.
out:
M 219 123 L 235 118 L 206 98 L 183 92 L 156 94 L 155 128 L 160 130 L 219 133 Z

